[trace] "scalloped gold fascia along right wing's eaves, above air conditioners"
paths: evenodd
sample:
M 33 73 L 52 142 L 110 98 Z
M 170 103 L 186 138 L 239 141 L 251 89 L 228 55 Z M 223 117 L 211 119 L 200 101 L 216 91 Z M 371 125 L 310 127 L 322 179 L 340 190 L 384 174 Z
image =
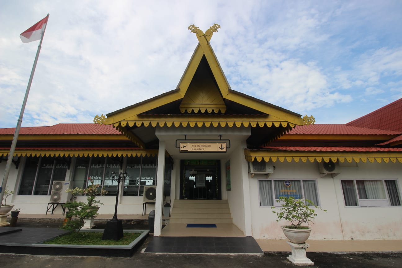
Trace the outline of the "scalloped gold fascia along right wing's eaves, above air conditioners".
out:
M 399 161 L 402 163 L 402 156 L 401 153 L 390 153 L 390 152 L 375 152 L 375 153 L 362 153 L 362 152 L 289 152 L 289 151 L 250 151 L 248 149 L 244 150 L 244 156 L 248 162 L 252 162 L 257 160 L 258 162 L 265 161 L 268 162 L 272 160 L 273 162 L 314 162 L 317 161 L 318 163 L 329 162 L 349 162 L 355 161 L 359 163 L 360 161 L 366 163 L 369 161 L 370 163 L 381 163 L 384 161 L 385 163 L 392 162 L 396 163 Z

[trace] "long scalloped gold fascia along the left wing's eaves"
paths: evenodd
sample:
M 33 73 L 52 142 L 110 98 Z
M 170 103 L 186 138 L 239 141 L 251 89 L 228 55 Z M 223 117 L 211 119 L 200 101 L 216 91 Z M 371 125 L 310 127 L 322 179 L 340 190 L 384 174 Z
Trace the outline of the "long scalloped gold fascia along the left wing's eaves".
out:
M 0 151 L 7 156 L 9 151 Z M 155 156 L 158 150 L 16 150 L 14 156 Z

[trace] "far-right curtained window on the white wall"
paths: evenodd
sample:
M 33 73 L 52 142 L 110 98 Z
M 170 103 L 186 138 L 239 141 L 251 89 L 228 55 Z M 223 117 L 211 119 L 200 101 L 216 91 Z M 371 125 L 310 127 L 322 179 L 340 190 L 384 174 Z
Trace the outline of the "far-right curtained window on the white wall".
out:
M 396 180 L 342 180 L 347 207 L 400 206 Z

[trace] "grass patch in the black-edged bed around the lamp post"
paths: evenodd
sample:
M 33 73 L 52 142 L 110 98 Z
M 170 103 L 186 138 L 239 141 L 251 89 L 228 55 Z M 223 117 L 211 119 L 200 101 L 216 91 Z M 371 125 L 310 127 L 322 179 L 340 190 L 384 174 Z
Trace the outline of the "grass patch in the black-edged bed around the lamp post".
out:
M 61 235 L 43 242 L 44 244 L 57 245 L 129 245 L 141 233 L 123 233 L 123 237 L 118 240 L 102 240 L 103 232 L 73 232 Z

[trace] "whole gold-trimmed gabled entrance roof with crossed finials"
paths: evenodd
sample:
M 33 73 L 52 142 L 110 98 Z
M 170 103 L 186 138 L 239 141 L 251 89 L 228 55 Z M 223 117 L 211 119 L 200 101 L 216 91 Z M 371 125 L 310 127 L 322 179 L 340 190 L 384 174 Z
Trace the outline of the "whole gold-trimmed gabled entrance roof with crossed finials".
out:
M 314 123 L 312 117 L 301 118 L 297 113 L 232 90 L 209 43 L 219 28 L 215 24 L 204 34 L 194 25 L 189 27 L 196 34 L 198 44 L 175 90 L 109 113 L 105 119 L 96 116 L 94 121 L 113 124 L 121 133 L 130 135 L 134 143 L 142 148 L 146 143 L 154 144 L 155 140 L 149 141 L 152 135 L 150 131 L 146 135 L 144 131 L 136 132 L 140 127 L 251 125 L 276 128 L 275 131 L 267 131 L 267 137 L 260 139 L 263 141 L 280 137 L 295 125 Z M 238 113 L 234 114 L 234 111 Z M 185 116 L 171 116 L 177 113 Z M 256 120 L 245 116 L 250 114 L 264 117 Z M 155 135 L 153 137 L 156 139 Z

